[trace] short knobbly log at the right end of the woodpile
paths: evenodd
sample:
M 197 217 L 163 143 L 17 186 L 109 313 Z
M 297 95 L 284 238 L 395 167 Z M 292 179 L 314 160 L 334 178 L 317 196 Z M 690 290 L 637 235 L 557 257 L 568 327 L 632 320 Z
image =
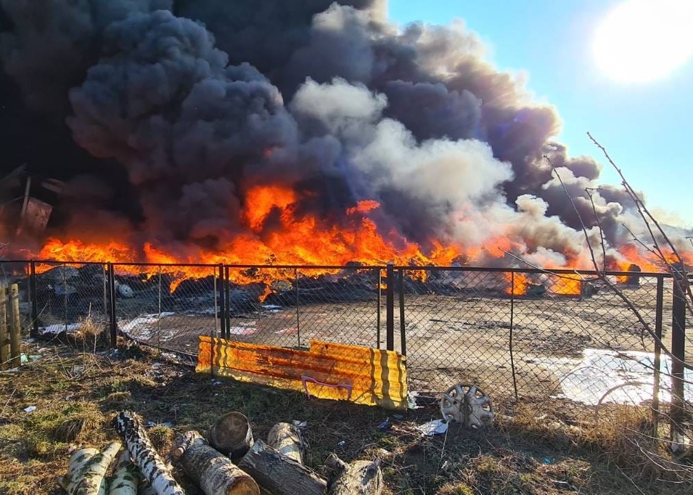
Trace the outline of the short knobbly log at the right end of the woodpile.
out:
M 331 454 L 325 465 L 332 471 L 328 495 L 380 495 L 383 491 L 380 459 L 355 460 L 347 464 Z

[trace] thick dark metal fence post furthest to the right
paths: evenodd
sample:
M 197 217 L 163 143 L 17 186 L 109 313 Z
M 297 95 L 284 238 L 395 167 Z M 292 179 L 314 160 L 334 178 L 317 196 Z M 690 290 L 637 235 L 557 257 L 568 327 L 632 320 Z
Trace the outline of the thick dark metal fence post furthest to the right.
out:
M 683 422 L 685 409 L 683 402 L 683 360 L 686 345 L 686 287 L 688 280 L 680 264 L 672 267 L 674 275 L 674 298 L 672 300 L 672 404 L 671 404 L 671 439 L 672 450 L 679 451 L 685 447 L 683 442 Z

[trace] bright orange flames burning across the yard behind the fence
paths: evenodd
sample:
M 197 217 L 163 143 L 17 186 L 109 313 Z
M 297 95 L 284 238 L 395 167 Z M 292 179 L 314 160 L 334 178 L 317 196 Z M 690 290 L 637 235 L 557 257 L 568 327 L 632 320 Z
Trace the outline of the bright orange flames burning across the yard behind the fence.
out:
M 61 262 L 114 262 L 119 263 L 119 273 L 152 276 L 159 273 L 159 264 L 181 264 L 167 267 L 175 271 L 171 289 L 186 278 L 203 278 L 211 275 L 209 267 L 183 266 L 184 264 L 240 264 L 240 265 L 333 265 L 349 262 L 364 265 L 383 265 L 389 261 L 398 265 L 426 267 L 450 266 L 464 260 L 467 264 L 482 264 L 482 260 L 502 258 L 520 247 L 509 237 L 498 236 L 484 242 L 483 246 L 443 244 L 431 240 L 426 246 L 410 242 L 395 232 L 380 233 L 369 213 L 380 208 L 377 201 L 360 201 L 344 213 L 343 224 L 336 225 L 309 213 L 297 213 L 298 193 L 287 186 L 255 186 L 245 195 L 245 207 L 241 213 L 245 230 L 229 234 L 216 249 L 185 246 L 184 249 L 166 249 L 155 242 L 147 242 L 139 248 L 125 240 L 84 242 L 77 238 L 47 240 L 37 253 L 28 258 L 58 260 Z M 624 244 L 618 249 L 620 256 L 609 263 L 609 269 L 627 271 L 631 264 L 638 264 L 642 271 L 661 271 L 651 253 L 643 253 L 634 244 Z M 548 269 L 574 268 L 578 260 L 568 255 L 567 266 L 545 266 Z M 516 260 L 514 260 L 516 262 Z M 583 260 L 584 261 L 584 260 Z M 693 255 L 685 253 L 685 261 L 693 264 Z M 148 263 L 142 266 L 136 263 Z M 515 263 L 517 264 L 517 262 Z M 581 268 L 590 268 L 581 263 Z M 37 271 L 46 271 L 53 265 L 38 264 Z M 337 273 L 339 269 L 302 269 L 302 274 L 318 276 Z M 291 278 L 290 269 L 276 269 L 272 273 L 248 273 L 231 270 L 231 282 L 239 284 L 257 281 L 271 282 Z M 426 272 L 416 272 L 425 278 Z M 535 281 L 523 273 L 505 276 L 507 294 L 521 296 Z M 554 294 L 581 294 L 580 276 L 568 275 L 556 278 L 547 287 Z

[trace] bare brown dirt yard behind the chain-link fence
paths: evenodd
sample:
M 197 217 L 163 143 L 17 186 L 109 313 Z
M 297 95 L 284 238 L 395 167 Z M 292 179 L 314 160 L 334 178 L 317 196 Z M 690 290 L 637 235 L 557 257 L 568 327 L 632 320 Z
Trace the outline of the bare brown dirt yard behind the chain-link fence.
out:
M 643 280 L 638 288 L 621 289 L 654 330 L 654 280 Z M 665 343 L 670 340 L 671 301 L 667 282 Z M 647 352 L 650 361 L 653 359 L 654 339 L 623 300 L 604 287 L 590 296 L 511 298 L 502 291 L 477 289 L 406 294 L 403 302 L 410 390 L 435 393 L 459 382 L 474 382 L 499 404 L 514 401 L 515 388 L 518 399 L 548 399 L 565 393 L 563 380 L 584 365 L 586 350 Z M 306 347 L 317 339 L 385 348 L 384 298 L 380 303 L 378 307 L 374 296 L 357 302 L 257 305 L 255 311 L 234 314 L 229 332 L 231 339 L 266 345 Z M 397 300 L 395 309 L 394 343 L 399 351 L 402 340 Z M 143 343 L 192 355 L 197 352 L 198 336 L 218 334 L 219 326 L 213 308 L 130 317 L 120 322 L 121 330 Z M 687 352 L 693 357 L 693 343 Z M 612 358 L 611 354 L 603 357 Z M 596 368 L 606 369 L 612 364 L 590 361 Z M 628 368 L 629 364 L 619 366 Z M 603 388 L 607 377 L 593 385 L 590 380 L 594 377 L 583 375 L 576 378 L 583 382 L 578 386 L 594 387 L 593 395 L 603 392 L 599 387 Z M 652 380 L 653 373 L 649 375 L 644 377 L 646 381 Z M 640 400 L 642 394 L 636 395 Z

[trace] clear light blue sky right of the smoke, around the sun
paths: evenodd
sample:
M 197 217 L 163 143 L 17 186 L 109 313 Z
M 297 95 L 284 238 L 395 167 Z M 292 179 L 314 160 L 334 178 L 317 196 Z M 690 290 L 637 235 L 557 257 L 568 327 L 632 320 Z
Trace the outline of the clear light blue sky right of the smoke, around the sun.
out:
M 489 48 L 500 69 L 523 72 L 527 87 L 555 105 L 563 119 L 559 141 L 570 154 L 602 155 L 590 131 L 607 148 L 635 189 L 661 219 L 693 227 L 693 60 L 653 82 L 615 82 L 595 62 L 599 21 L 620 0 L 389 0 L 397 24 L 463 19 Z M 650 33 L 643 33 L 644 36 Z M 620 183 L 607 168 L 602 181 Z M 663 211 L 661 211 L 663 210 Z

